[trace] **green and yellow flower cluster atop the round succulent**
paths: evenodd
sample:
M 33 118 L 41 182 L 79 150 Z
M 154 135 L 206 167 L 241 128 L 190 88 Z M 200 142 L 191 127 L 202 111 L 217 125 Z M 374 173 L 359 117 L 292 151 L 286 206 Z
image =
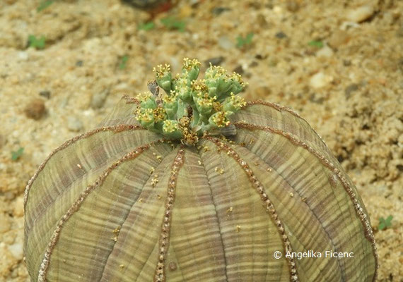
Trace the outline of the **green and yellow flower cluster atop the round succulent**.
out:
M 221 66 L 211 66 L 204 79 L 197 59 L 184 59 L 182 73 L 173 78 L 170 66 L 157 66 L 155 82 L 164 90 L 139 94 L 136 118 L 145 128 L 165 137 L 193 145 L 198 137 L 230 125 L 229 117 L 245 106 L 236 94 L 245 83 L 238 73 L 228 75 Z

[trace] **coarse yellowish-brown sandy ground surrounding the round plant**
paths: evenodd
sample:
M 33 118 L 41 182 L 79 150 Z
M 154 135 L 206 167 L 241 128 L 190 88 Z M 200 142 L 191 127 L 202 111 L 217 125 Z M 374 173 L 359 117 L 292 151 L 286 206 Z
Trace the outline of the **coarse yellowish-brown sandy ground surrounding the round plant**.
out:
M 0 1 L 0 281 L 28 281 L 23 190 L 35 168 L 95 128 L 122 94 L 145 91 L 153 66 L 176 72 L 185 56 L 222 61 L 249 82 L 247 99 L 308 120 L 366 203 L 378 280 L 403 281 L 403 1 L 184 0 L 151 30 L 139 30 L 148 13 L 118 0 L 39 4 Z M 185 31 L 168 29 L 166 16 Z M 28 48 L 29 35 L 45 36 L 45 49 Z M 392 226 L 378 231 L 389 215 Z

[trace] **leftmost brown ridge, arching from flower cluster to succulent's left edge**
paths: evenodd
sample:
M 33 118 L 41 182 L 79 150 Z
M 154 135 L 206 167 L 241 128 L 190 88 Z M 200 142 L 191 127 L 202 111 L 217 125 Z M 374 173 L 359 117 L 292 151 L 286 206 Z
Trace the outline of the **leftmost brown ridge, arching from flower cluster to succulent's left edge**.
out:
M 64 142 L 62 145 L 60 145 L 59 147 L 57 147 L 56 149 L 54 149 L 49 156 L 47 156 L 47 158 L 45 159 L 45 161 L 42 162 L 42 164 L 40 164 L 39 168 L 37 168 L 37 171 L 35 172 L 35 174 L 33 175 L 33 177 L 28 181 L 27 186 L 25 187 L 25 192 L 24 192 L 24 209 L 25 206 L 27 204 L 28 201 L 28 195 L 30 192 L 30 188 L 33 185 L 33 182 L 35 181 L 35 179 L 37 178 L 37 176 L 39 175 L 39 173 L 43 170 L 43 168 L 45 168 L 45 165 L 47 164 L 47 162 L 49 161 L 49 159 L 51 157 L 53 157 L 54 154 L 56 154 L 59 151 L 62 151 L 63 149 L 65 149 L 66 147 L 69 147 L 69 145 L 74 144 L 75 142 L 77 142 L 78 140 L 82 140 L 85 139 L 87 137 L 90 137 L 91 135 L 94 135 L 96 133 L 100 133 L 103 131 L 113 131 L 113 132 L 121 132 L 124 130 L 146 130 L 145 128 L 142 128 L 139 125 L 127 125 L 127 124 L 121 124 L 121 125 L 113 125 L 113 126 L 104 126 L 102 128 L 95 128 L 93 130 L 88 131 L 87 133 L 83 133 L 80 135 L 77 135 L 69 140 L 67 140 L 66 142 Z

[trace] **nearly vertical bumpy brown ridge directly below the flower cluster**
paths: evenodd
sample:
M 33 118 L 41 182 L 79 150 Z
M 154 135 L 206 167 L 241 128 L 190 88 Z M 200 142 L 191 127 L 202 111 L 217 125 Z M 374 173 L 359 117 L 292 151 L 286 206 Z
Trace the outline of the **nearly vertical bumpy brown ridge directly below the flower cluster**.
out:
M 154 282 L 165 282 L 165 257 L 168 251 L 170 237 L 170 223 L 172 218 L 172 209 L 175 202 L 175 188 L 177 184 L 177 173 L 184 163 L 185 149 L 184 146 L 179 149 L 173 161 L 168 180 L 168 197 L 165 202 L 165 213 L 163 223 L 161 224 L 160 245 L 158 251 L 158 263 L 154 274 Z

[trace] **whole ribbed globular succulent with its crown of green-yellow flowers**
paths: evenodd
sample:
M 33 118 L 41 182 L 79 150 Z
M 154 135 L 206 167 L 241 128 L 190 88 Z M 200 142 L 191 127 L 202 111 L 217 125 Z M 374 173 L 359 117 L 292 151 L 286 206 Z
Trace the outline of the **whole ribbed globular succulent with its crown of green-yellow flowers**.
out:
M 25 190 L 33 281 L 375 281 L 358 192 L 295 112 L 185 59 L 158 66 Z

